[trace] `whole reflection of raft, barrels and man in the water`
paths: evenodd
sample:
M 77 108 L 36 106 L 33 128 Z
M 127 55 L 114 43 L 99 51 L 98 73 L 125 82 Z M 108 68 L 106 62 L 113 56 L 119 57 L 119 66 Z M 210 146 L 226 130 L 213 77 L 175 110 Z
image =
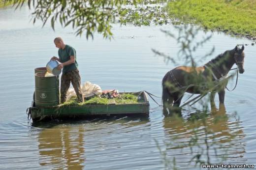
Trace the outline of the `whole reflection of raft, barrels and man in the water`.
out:
M 90 147 L 91 141 L 96 144 L 97 139 L 101 140 L 104 135 L 107 138 L 112 130 L 119 129 L 121 131 L 121 129 L 133 128 L 148 122 L 149 117 L 147 116 L 143 118 L 94 119 L 71 122 L 71 124 L 70 122 L 34 124 L 37 127 L 47 127 L 43 128 L 38 136 L 39 164 L 52 169 L 82 170 L 85 168 L 88 157 L 86 148 Z M 98 145 L 98 147 L 113 148 L 117 140 L 120 139 L 111 140 L 111 143 L 107 142 L 104 143 L 104 146 Z M 89 150 L 92 152 L 91 148 Z

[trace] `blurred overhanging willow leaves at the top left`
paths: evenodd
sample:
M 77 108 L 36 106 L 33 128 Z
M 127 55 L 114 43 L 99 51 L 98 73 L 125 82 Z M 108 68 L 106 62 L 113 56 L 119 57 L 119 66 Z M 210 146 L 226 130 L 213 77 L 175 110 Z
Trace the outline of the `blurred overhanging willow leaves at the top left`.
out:
M 95 31 L 103 33 L 104 37 L 111 36 L 110 22 L 115 19 L 111 10 L 123 3 L 123 0 L 13 0 L 13 3 L 17 8 L 26 1 L 34 10 L 33 23 L 41 20 L 45 25 L 50 20 L 54 29 L 55 22 L 59 21 L 63 27 L 76 28 L 76 35 L 86 30 L 87 39 L 93 37 Z

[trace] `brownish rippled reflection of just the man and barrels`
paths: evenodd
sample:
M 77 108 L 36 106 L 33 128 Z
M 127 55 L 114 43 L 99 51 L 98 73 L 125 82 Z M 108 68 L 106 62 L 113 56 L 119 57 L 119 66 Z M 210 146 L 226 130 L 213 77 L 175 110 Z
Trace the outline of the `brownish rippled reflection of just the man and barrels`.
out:
M 82 170 L 85 162 L 83 134 L 82 125 L 43 129 L 38 137 L 40 165 Z

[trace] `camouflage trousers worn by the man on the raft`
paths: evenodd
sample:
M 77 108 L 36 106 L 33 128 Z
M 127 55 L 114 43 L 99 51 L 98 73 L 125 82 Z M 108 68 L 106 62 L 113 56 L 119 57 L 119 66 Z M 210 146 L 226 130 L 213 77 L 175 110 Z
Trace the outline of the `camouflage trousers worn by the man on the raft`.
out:
M 69 71 L 67 73 L 62 74 L 61 78 L 61 103 L 66 101 L 66 93 L 70 86 L 70 82 L 72 83 L 77 99 L 79 102 L 84 102 L 84 97 L 81 89 L 81 77 L 79 75 L 78 70 Z

